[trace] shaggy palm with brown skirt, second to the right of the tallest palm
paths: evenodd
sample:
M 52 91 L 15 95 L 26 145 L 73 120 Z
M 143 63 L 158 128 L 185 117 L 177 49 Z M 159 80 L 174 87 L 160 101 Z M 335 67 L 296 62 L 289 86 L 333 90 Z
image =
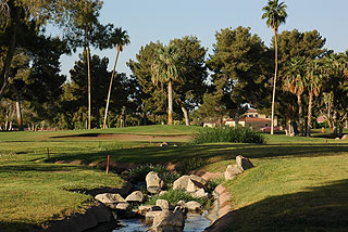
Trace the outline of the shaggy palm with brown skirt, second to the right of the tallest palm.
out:
M 323 76 L 321 74 L 321 62 L 319 60 L 312 60 L 307 65 L 306 75 L 306 89 L 308 90 L 308 115 L 307 115 L 307 130 L 306 136 L 311 136 L 312 128 L 312 104 L 313 96 L 318 96 L 323 85 Z

